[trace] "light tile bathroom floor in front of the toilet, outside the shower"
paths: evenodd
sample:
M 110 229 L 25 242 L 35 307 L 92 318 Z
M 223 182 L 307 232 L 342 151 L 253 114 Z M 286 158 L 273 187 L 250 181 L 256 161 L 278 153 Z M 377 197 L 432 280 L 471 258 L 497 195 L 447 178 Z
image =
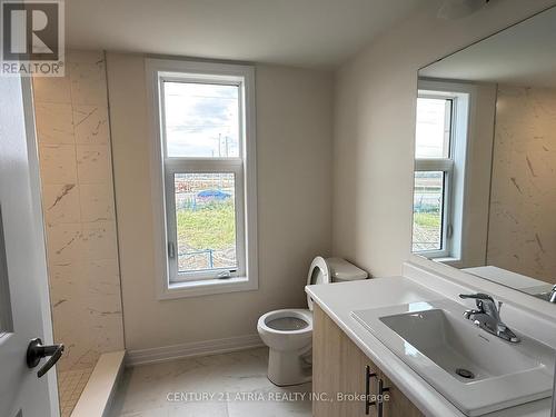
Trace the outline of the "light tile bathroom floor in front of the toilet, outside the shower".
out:
M 126 369 L 111 417 L 310 417 L 311 385 L 279 388 L 267 348 Z

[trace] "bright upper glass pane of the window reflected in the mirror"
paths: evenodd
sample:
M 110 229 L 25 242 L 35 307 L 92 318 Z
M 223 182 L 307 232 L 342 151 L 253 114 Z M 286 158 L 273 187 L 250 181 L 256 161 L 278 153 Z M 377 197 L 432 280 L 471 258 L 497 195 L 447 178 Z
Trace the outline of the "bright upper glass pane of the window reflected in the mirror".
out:
M 417 99 L 416 158 L 448 158 L 451 100 Z

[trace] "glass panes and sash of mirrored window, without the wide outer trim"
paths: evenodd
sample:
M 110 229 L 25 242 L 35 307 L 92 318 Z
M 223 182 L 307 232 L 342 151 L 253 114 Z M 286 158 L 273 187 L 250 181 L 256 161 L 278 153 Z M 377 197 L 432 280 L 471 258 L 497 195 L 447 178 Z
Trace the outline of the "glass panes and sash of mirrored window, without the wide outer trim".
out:
M 413 251 L 429 257 L 450 252 L 456 100 L 425 93 L 417 99 Z

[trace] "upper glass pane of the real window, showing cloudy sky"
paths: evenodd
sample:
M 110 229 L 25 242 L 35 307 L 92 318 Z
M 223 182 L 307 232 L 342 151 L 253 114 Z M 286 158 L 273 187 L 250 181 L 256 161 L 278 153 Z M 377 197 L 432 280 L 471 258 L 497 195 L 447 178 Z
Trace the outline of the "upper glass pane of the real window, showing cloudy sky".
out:
M 168 157 L 239 157 L 239 87 L 165 82 Z

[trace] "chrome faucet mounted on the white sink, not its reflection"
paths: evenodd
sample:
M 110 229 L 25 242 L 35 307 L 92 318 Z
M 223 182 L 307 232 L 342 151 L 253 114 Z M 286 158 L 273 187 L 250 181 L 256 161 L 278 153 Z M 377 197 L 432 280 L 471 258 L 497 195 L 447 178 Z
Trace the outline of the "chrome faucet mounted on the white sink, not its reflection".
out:
M 467 310 L 464 317 L 471 320 L 475 325 L 483 330 L 488 331 L 500 339 L 517 344 L 520 339 L 500 319 L 502 301 L 496 306 L 493 297 L 488 294 L 460 294 L 459 298 L 473 298 L 477 305 L 476 310 Z

